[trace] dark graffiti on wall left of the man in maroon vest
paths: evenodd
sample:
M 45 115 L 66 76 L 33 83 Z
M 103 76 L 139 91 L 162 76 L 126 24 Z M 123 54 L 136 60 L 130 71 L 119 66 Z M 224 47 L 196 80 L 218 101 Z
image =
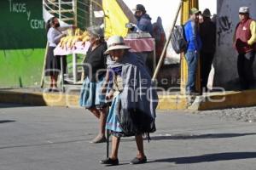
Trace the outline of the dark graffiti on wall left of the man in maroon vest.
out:
M 224 37 L 232 34 L 232 21 L 230 21 L 230 18 L 228 16 L 221 16 L 218 18 L 218 46 L 224 44 Z M 231 40 L 230 40 L 231 41 Z

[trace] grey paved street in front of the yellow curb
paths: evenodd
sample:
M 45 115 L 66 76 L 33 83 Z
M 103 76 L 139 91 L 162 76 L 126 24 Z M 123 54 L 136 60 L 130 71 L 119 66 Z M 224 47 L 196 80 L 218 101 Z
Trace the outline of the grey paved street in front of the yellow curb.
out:
M 0 169 L 255 170 L 256 122 L 215 112 L 159 111 L 157 132 L 150 143 L 145 140 L 148 163 L 129 164 L 136 144 L 124 138 L 120 165 L 104 167 L 98 161 L 106 156 L 106 144 L 89 143 L 97 123 L 88 111 L 0 104 Z

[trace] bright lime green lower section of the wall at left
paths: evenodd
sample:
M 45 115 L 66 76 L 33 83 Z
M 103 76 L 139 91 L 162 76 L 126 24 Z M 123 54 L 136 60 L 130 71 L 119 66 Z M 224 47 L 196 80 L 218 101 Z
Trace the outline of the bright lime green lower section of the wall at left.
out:
M 39 87 L 44 48 L 0 51 L 0 88 Z

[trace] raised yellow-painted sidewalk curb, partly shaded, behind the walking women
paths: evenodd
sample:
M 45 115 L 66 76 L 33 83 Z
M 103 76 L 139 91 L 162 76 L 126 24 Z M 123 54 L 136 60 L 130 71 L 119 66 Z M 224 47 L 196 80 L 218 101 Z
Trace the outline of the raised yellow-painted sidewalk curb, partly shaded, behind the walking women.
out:
M 0 102 L 24 105 L 79 107 L 79 87 L 67 88 L 65 93 L 48 93 L 47 89 L 0 89 Z M 158 110 L 206 111 L 256 105 L 256 90 L 224 91 L 202 96 L 180 95 L 179 92 L 160 93 Z

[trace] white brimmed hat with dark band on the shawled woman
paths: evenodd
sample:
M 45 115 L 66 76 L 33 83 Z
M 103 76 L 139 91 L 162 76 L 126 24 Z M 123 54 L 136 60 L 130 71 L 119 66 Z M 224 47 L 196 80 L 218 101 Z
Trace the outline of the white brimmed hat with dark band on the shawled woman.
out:
M 123 37 L 113 36 L 108 38 L 108 49 L 105 54 L 108 54 L 109 51 L 114 49 L 130 49 L 131 47 L 125 45 L 125 41 Z

